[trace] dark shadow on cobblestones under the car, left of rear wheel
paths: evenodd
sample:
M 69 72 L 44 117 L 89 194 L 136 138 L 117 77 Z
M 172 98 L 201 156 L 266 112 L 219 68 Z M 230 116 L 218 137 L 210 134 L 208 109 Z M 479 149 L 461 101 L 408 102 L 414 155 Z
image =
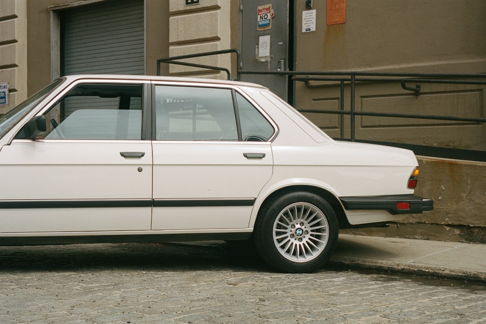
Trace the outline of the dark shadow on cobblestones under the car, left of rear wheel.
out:
M 210 243 L 102 243 L 1 246 L 0 272 L 80 269 L 271 271 L 252 246 Z

